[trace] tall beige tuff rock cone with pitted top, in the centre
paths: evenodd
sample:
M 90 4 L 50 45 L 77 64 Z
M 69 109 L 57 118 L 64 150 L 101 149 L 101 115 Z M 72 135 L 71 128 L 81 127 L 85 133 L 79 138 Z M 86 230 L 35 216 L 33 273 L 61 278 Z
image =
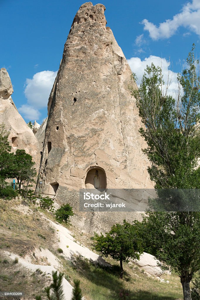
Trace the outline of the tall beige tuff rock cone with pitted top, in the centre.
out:
M 96 170 L 102 188 L 153 188 L 138 132 L 142 123 L 128 89 L 136 84 L 104 11 L 103 4 L 87 2 L 76 13 L 48 103 L 37 189 L 77 209 L 77 191 L 94 188 Z M 119 220 L 119 213 L 81 216 L 81 226 L 100 223 L 99 229 Z

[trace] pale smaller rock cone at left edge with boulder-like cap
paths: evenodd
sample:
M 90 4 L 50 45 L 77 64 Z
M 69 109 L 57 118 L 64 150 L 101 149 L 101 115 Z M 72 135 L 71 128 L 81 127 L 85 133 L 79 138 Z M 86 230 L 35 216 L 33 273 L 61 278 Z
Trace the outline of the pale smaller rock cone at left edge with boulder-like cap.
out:
M 11 151 L 16 149 L 25 149 L 32 155 L 33 160 L 39 167 L 40 156 L 38 154 L 38 142 L 32 130 L 26 125 L 24 119 L 18 113 L 11 95 L 13 93 L 12 83 L 7 70 L 0 69 L 0 123 L 4 123 L 8 131 L 10 131 L 8 140 Z

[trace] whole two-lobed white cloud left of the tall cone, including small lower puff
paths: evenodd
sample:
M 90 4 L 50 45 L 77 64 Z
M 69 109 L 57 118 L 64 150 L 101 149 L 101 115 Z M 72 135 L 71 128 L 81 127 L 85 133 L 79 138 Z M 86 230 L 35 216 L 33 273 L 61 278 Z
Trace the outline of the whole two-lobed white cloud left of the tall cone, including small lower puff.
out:
M 40 117 L 39 110 L 47 107 L 56 75 L 57 71 L 42 71 L 34 74 L 32 79 L 26 79 L 24 93 L 27 104 L 19 108 L 25 119 L 37 120 Z

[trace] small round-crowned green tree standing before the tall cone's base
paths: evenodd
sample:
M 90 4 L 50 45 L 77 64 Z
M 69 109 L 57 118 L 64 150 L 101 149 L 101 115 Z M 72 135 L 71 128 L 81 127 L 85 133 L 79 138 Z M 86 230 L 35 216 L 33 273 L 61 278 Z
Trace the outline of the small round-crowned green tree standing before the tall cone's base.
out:
M 136 226 L 137 224 L 137 226 Z M 128 262 L 130 257 L 139 259 L 143 252 L 142 239 L 139 234 L 139 222 L 132 225 L 124 220 L 124 223 L 112 226 L 106 235 L 95 233 L 95 249 L 103 256 L 110 255 L 113 259 L 120 261 L 120 278 L 123 278 L 123 261 Z

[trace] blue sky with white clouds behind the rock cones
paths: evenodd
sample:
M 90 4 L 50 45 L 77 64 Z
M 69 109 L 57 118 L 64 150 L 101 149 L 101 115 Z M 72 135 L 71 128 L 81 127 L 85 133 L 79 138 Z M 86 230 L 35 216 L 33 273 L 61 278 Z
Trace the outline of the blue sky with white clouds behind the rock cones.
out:
M 0 68 L 13 84 L 13 101 L 25 121 L 41 124 L 73 18 L 83 1 L 0 0 Z M 99 3 L 92 1 L 93 5 Z M 172 92 L 192 44 L 199 56 L 200 0 L 103 0 L 109 26 L 141 78 L 146 64 L 172 63 Z M 167 21 L 166 21 L 167 20 Z

